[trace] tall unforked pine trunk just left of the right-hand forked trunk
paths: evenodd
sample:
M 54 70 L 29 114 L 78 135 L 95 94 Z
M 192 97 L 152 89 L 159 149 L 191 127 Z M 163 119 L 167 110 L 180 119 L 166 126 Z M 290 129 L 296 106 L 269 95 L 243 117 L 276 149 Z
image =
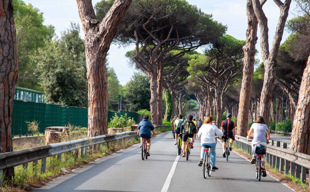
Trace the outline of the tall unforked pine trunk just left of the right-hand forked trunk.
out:
M 246 30 L 246 44 L 243 46 L 243 77 L 240 89 L 239 109 L 237 117 L 237 135 L 245 137 L 248 129 L 246 121 L 247 113 L 250 109 L 251 88 L 253 82 L 255 44 L 257 42 L 257 19 L 254 13 L 251 0 L 246 2 L 246 12 L 248 16 L 248 28 Z

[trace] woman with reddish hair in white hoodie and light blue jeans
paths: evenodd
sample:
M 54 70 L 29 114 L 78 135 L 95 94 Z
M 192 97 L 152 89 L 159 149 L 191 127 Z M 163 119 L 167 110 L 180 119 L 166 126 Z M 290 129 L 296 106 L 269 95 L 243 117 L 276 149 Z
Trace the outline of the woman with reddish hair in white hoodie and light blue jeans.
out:
M 212 170 L 216 170 L 219 169 L 217 167 L 215 167 L 215 147 L 216 147 L 216 138 L 215 138 L 215 134 L 217 136 L 223 136 L 223 132 L 215 125 L 212 124 L 213 122 L 213 117 L 212 116 L 207 116 L 206 119 L 203 121 L 202 126 L 200 127 L 197 136 L 201 137 L 201 153 L 200 153 L 200 161 L 198 163 L 198 166 L 202 166 L 203 164 L 203 146 L 204 145 L 209 145 L 211 146 L 210 148 L 210 152 L 211 152 L 211 165 Z

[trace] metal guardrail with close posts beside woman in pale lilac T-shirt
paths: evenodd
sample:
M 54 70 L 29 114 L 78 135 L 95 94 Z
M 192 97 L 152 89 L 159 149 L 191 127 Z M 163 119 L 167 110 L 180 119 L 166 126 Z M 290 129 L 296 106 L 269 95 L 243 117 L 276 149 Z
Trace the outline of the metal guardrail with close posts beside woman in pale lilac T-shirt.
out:
M 236 135 L 234 146 L 252 154 L 251 142 L 247 141 L 246 137 Z M 291 151 L 278 146 L 267 146 L 266 163 L 276 168 L 279 171 L 284 171 L 285 174 L 295 176 L 306 183 L 306 174 L 310 175 L 310 155 Z M 309 177 L 310 188 L 310 177 Z

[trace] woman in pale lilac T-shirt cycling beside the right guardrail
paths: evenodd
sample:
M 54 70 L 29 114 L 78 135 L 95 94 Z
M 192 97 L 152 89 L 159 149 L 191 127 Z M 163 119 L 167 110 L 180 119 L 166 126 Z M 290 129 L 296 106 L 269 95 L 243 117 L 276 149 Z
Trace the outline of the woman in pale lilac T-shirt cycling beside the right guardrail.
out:
M 255 164 L 255 149 L 254 145 L 262 145 L 264 147 L 267 147 L 267 141 L 266 141 L 266 133 L 267 133 L 267 139 L 270 139 L 270 133 L 268 126 L 265 124 L 265 120 L 262 116 L 258 116 L 256 118 L 255 123 L 251 125 L 251 128 L 249 130 L 249 134 L 247 138 L 250 138 L 251 132 L 254 131 L 253 133 L 253 140 L 252 140 L 252 160 L 251 164 Z M 263 161 L 263 166 L 262 166 L 262 172 L 263 172 L 263 177 L 266 177 L 266 170 L 265 170 L 265 162 Z

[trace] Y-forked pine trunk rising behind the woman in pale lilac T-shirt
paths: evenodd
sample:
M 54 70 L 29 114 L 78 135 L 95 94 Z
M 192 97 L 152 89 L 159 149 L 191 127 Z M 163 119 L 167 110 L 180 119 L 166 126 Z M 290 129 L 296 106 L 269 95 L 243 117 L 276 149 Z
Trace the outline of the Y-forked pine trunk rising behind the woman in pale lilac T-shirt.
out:
M 260 95 L 259 106 L 261 116 L 264 117 L 267 125 L 269 124 L 270 101 L 272 99 L 274 81 L 276 79 L 277 55 L 282 40 L 286 18 L 290 9 L 291 0 L 286 0 L 284 3 L 282 3 L 280 0 L 274 0 L 274 2 L 280 8 L 280 16 L 276 33 L 273 38 L 272 47 L 269 52 L 267 17 L 263 12 L 260 1 L 252 0 L 254 12 L 260 28 L 261 54 L 265 67 L 263 89 Z

